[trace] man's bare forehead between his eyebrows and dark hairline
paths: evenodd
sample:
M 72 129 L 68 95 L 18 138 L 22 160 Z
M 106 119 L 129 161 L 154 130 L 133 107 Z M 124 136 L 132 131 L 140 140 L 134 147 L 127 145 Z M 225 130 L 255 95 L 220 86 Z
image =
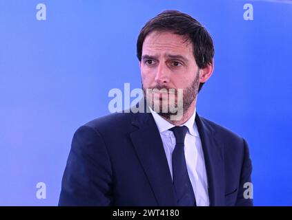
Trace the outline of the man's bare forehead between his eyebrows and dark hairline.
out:
M 142 54 L 149 53 L 193 55 L 193 43 L 186 36 L 171 32 L 150 32 L 144 40 Z

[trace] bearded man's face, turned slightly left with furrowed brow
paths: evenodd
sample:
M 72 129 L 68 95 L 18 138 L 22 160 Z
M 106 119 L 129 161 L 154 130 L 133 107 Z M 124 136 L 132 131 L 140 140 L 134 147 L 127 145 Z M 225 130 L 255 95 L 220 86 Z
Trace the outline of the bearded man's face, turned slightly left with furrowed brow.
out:
M 199 87 L 199 67 L 193 55 L 193 44 L 184 36 L 171 32 L 151 32 L 146 36 L 142 48 L 140 63 L 142 87 L 150 104 L 159 104 L 159 114 L 170 118 L 171 113 L 162 113 L 162 100 L 166 98 L 170 103 L 169 89 L 175 89 L 175 104 L 181 97 L 183 112 L 191 104 L 195 104 Z M 146 95 L 146 89 L 167 89 L 168 92 L 154 91 Z M 183 96 L 177 96 L 179 89 L 183 89 Z M 171 103 L 170 103 L 171 105 Z

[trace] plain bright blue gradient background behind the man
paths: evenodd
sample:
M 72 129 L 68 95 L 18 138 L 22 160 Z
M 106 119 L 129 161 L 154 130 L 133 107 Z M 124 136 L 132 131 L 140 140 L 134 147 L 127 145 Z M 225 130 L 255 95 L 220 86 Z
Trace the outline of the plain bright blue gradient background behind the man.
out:
M 292 3 L 279 2 L 0 0 L 0 205 L 57 205 L 73 133 L 109 113 L 110 89 L 140 87 L 139 30 L 177 9 L 215 43 L 198 113 L 249 142 L 255 205 L 291 206 Z

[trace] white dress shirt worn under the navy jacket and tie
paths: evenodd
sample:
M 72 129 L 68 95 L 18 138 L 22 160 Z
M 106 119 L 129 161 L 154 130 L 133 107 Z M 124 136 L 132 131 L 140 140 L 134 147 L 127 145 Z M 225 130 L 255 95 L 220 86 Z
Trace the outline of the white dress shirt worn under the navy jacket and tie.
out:
M 175 148 L 175 135 L 171 129 L 173 124 L 166 121 L 158 113 L 149 108 L 155 123 L 157 124 L 160 136 L 164 146 L 169 170 L 173 178 L 172 154 Z M 184 140 L 184 155 L 186 157 L 186 167 L 188 169 L 188 176 L 190 177 L 193 191 L 195 194 L 195 201 L 197 206 L 209 206 L 208 197 L 208 181 L 206 175 L 206 167 L 204 161 L 204 154 L 202 149 L 201 139 L 195 124 L 195 111 L 191 118 L 188 119 L 182 126 L 188 127 L 188 132 Z

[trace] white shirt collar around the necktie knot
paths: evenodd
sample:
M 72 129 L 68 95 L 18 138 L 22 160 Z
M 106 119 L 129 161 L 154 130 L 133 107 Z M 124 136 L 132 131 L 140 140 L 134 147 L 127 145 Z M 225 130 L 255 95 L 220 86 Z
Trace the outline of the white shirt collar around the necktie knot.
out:
M 157 125 L 157 128 L 159 130 L 159 133 L 163 133 L 164 131 L 168 131 L 169 129 L 173 128 L 175 125 L 171 124 L 162 116 L 160 116 L 157 112 L 153 111 L 153 109 L 149 108 L 153 118 L 155 120 L 155 123 Z M 184 124 L 181 126 L 186 126 L 188 128 L 188 132 L 193 135 L 199 137 L 199 132 L 197 131 L 197 125 L 195 124 L 195 114 L 196 114 L 196 109 L 193 112 L 193 115 L 191 115 L 191 118 L 189 118 Z

